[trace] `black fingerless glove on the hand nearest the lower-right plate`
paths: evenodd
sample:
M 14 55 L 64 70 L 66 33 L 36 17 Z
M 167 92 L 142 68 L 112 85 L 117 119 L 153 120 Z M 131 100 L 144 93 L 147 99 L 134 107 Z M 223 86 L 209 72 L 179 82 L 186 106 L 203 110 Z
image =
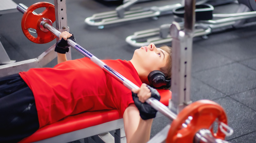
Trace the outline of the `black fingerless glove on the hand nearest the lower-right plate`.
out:
M 160 101 L 161 97 L 160 97 L 160 94 L 158 93 L 158 91 L 148 85 L 147 85 L 147 87 L 150 89 L 151 97 Z M 152 119 L 152 118 L 156 117 L 157 110 L 155 110 L 151 105 L 149 105 L 146 102 L 141 103 L 139 101 L 139 97 L 137 96 L 136 93 L 132 92 L 132 96 L 133 96 L 133 101 L 134 101 L 136 107 L 139 109 L 139 115 L 143 120 Z

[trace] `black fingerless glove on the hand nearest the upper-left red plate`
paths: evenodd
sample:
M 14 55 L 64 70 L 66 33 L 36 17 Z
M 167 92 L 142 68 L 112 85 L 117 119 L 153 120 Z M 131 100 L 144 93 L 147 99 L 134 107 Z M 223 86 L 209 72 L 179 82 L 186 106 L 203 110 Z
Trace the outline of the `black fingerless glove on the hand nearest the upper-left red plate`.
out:
M 71 39 L 72 41 L 75 42 L 75 37 L 74 37 L 73 34 L 68 39 Z M 60 53 L 60 54 L 66 54 L 66 52 L 69 52 L 68 42 L 66 40 L 64 40 L 63 38 L 61 38 L 61 40 L 58 40 L 56 42 L 56 46 L 55 46 L 54 51 L 57 52 L 57 53 Z

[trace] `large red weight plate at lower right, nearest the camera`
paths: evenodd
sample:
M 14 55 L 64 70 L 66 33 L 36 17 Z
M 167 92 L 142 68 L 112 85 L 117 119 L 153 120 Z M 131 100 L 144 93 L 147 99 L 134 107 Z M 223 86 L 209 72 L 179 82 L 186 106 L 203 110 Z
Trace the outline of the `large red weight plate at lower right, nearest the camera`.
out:
M 186 128 L 182 127 L 188 117 L 193 119 Z M 167 143 L 193 143 L 194 136 L 200 129 L 209 129 L 213 122 L 218 119 L 227 124 L 227 117 L 224 109 L 217 103 L 210 100 L 200 100 L 186 106 L 172 122 L 166 142 Z M 215 138 L 224 139 L 225 134 L 218 128 L 212 135 Z

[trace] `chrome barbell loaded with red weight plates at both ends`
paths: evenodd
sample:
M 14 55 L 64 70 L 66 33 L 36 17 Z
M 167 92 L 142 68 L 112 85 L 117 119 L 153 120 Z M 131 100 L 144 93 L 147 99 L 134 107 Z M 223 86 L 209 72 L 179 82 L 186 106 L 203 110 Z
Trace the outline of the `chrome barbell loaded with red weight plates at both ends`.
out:
M 37 8 L 46 9 L 42 13 L 36 14 L 33 11 Z M 54 40 L 56 37 L 59 38 L 61 32 L 52 26 L 53 22 L 55 21 L 55 10 L 53 4 L 48 2 L 38 2 L 31 5 L 29 8 L 23 4 L 19 4 L 17 9 L 24 13 L 21 20 L 21 27 L 24 35 L 29 40 L 34 43 L 43 44 Z M 30 34 L 30 28 L 36 30 L 37 38 Z M 83 56 L 90 58 L 94 63 L 116 78 L 125 87 L 129 88 L 130 90 L 133 88 L 139 88 L 74 41 L 67 39 L 67 43 Z M 166 142 L 168 143 L 194 142 L 196 138 L 200 140 L 202 138 L 199 136 L 201 135 L 202 137 L 203 134 L 201 134 L 201 132 L 205 130 L 206 132 L 209 131 L 211 134 L 203 136 L 206 141 L 213 142 L 215 139 L 220 139 L 220 143 L 226 143 L 226 141 L 223 140 L 225 136 L 233 133 L 233 130 L 227 126 L 227 117 L 224 109 L 221 107 L 221 105 L 213 101 L 196 101 L 187 105 L 178 115 L 171 112 L 168 107 L 154 98 L 149 98 L 146 100 L 146 102 L 156 110 L 160 111 L 167 118 L 173 120 L 166 138 Z M 190 121 L 184 124 L 187 119 L 190 119 Z M 218 129 L 215 133 L 213 124 L 216 122 L 216 120 L 218 123 Z M 200 135 L 198 136 L 197 134 Z

